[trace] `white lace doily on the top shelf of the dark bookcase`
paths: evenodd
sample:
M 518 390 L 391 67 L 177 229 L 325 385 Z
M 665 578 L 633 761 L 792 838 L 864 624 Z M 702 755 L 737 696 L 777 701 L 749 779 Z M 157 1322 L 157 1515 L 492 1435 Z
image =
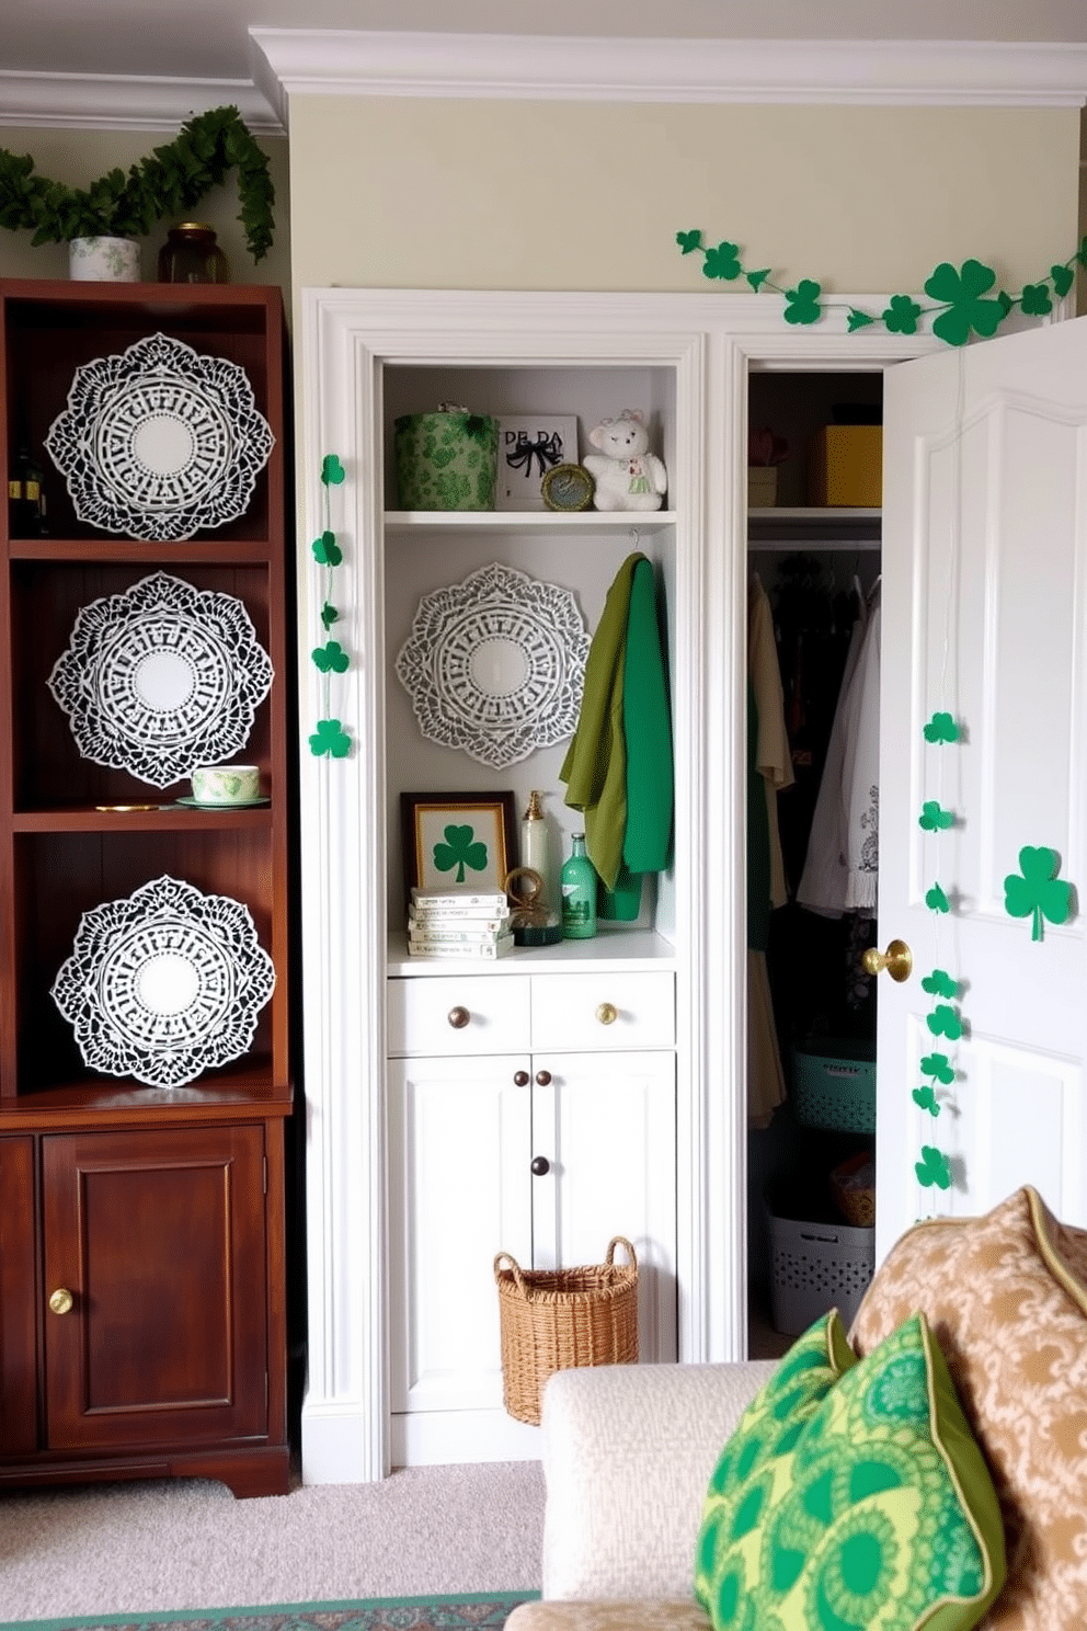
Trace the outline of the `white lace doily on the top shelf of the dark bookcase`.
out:
M 80 520 L 174 540 L 244 515 L 274 440 L 244 369 L 148 334 L 75 370 L 46 449 Z

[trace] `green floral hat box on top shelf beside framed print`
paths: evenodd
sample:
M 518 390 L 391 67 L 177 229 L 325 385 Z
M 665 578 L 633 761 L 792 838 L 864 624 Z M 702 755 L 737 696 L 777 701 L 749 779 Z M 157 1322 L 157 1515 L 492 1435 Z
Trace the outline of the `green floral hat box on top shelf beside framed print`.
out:
M 394 424 L 401 509 L 494 509 L 499 421 L 445 403 Z

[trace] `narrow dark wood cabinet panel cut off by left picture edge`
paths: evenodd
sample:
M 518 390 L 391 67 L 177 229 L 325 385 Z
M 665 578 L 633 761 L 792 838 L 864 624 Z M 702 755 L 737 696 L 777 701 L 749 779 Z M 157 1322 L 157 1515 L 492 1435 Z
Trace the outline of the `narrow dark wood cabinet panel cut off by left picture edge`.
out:
M 37 1443 L 34 1140 L 0 1138 L 0 1455 Z

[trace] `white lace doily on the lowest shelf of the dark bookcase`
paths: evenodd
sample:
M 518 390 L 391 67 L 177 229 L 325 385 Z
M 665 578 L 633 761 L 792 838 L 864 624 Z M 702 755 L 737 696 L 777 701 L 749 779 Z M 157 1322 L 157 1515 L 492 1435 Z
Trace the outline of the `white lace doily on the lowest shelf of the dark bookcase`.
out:
M 179 1088 L 246 1052 L 274 985 L 248 907 L 163 876 L 83 913 L 52 998 L 90 1070 Z

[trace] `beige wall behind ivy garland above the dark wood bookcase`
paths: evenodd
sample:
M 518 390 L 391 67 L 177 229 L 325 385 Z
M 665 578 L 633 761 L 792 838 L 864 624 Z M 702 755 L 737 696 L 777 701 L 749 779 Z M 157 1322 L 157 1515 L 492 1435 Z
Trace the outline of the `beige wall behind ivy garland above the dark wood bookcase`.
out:
M 127 170 L 147 157 L 155 147 L 169 142 L 168 132 L 158 130 L 57 130 L 0 127 L 0 147 L 11 153 L 31 153 L 39 175 L 70 186 L 88 186 L 109 170 Z M 254 263 L 244 246 L 238 223 L 238 188 L 228 175 L 222 188 L 215 188 L 197 204 L 189 219 L 209 222 L 230 261 L 230 279 L 235 284 L 279 284 L 290 307 L 290 176 L 285 137 L 261 137 L 261 147 L 269 155 L 275 184 L 275 243 L 264 259 Z M 156 276 L 156 256 L 166 241 L 163 222 L 143 240 L 143 277 Z M 62 243 L 42 243 L 31 248 L 29 232 L 0 230 L 0 277 L 67 277 L 68 251 Z

